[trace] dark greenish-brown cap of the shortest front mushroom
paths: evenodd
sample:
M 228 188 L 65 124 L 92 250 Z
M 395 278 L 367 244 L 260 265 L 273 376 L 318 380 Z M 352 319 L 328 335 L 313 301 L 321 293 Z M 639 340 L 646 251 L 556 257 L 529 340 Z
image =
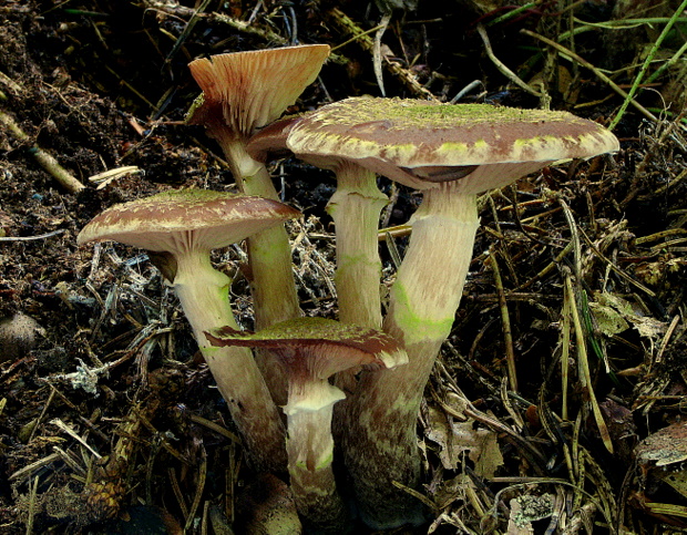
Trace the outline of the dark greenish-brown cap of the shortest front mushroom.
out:
M 296 318 L 258 332 L 222 327 L 205 335 L 213 346 L 269 349 L 295 378 L 324 380 L 349 368 L 393 368 L 408 360 L 389 335 L 325 318 Z

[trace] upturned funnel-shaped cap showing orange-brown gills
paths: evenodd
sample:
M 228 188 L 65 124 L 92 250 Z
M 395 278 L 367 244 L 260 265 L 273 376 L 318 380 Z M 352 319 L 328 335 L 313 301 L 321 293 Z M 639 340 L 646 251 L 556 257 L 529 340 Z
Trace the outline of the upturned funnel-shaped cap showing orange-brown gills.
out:
M 203 90 L 203 104 L 188 121 L 223 117 L 236 134 L 250 135 L 296 102 L 328 55 L 329 45 L 306 44 L 194 60 L 188 68 Z

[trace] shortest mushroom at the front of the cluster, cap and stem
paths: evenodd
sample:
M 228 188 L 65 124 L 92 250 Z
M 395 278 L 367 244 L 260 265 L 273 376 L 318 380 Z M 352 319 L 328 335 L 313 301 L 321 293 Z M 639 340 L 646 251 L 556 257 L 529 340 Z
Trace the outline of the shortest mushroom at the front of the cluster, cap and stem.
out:
M 206 333 L 214 346 L 269 349 L 288 377 L 288 471 L 296 507 L 317 533 L 342 533 L 347 508 L 336 488 L 331 462 L 332 407 L 346 394 L 328 378 L 351 367 L 388 369 L 407 362 L 400 343 L 377 329 L 324 318 L 297 318 L 258 332 L 230 327 Z

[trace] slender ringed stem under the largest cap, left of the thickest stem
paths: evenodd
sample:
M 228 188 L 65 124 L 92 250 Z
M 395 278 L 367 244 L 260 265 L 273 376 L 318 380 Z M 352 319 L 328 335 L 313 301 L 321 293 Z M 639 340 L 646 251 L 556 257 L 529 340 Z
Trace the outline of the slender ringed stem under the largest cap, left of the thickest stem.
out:
M 377 187 L 377 175 L 342 161 L 337 167 L 337 191 L 327 212 L 337 238 L 336 286 L 339 320 L 381 328 L 379 215 L 388 198 Z

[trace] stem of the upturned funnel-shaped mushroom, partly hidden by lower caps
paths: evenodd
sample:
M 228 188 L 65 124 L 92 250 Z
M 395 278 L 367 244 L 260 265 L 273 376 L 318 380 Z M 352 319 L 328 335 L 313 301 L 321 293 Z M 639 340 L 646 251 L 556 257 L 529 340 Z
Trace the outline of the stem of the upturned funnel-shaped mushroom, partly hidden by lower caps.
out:
M 246 141 L 234 135 L 223 136 L 221 132 L 213 134 L 227 156 L 239 189 L 246 195 L 279 200 L 267 167 L 246 152 Z M 291 246 L 285 226 L 254 234 L 247 244 L 256 330 L 300 317 Z M 287 381 L 280 364 L 267 350 L 257 350 L 256 360 L 275 402 L 285 404 Z

